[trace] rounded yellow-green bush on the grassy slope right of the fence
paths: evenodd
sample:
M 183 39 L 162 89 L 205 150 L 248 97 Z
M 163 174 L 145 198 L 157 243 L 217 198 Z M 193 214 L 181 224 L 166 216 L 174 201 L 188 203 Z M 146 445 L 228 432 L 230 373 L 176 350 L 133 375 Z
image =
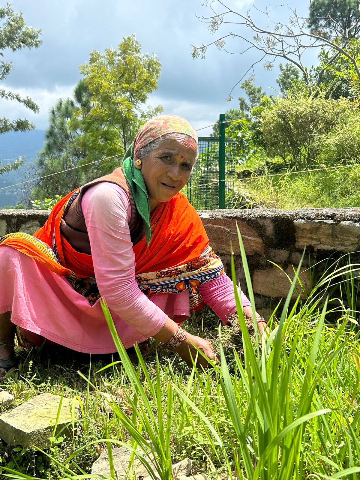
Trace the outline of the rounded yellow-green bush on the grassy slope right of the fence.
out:
M 267 155 L 280 156 L 290 167 L 308 167 L 324 150 L 324 138 L 343 125 L 352 112 L 348 100 L 325 101 L 307 89 L 276 97 L 264 110 L 261 130 Z

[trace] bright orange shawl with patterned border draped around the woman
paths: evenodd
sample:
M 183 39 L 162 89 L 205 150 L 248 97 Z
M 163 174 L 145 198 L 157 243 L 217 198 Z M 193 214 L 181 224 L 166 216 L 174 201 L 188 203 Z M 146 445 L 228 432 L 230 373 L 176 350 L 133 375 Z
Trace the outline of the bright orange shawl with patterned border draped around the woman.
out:
M 72 287 L 94 304 L 99 294 L 89 287 L 94 276 L 91 255 L 76 252 L 60 234 L 60 221 L 71 192 L 52 209 L 47 222 L 34 236 L 10 233 L 1 245 L 34 258 L 54 273 L 65 276 Z M 145 236 L 134 245 L 135 277 L 145 295 L 178 293 L 190 290 L 190 309 L 204 305 L 198 286 L 221 275 L 221 260 L 209 247 L 209 239 L 196 210 L 182 193 L 160 204 L 151 214 L 153 238 Z M 60 260 L 60 263 L 59 263 Z M 84 281 L 82 280 L 84 279 Z

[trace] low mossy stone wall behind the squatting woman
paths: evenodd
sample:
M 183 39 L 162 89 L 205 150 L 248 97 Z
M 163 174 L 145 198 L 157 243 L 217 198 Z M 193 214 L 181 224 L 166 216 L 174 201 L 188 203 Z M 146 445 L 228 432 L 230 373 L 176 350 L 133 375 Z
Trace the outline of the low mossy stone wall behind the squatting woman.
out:
M 330 258 L 329 265 L 343 257 L 346 262 L 344 254 L 360 250 L 360 208 L 203 210 L 199 214 L 210 245 L 221 256 L 229 274 L 232 245 L 237 277 L 246 291 L 238 223 L 257 307 L 269 304 L 270 298 L 287 295 L 290 283 L 286 274 L 294 276 L 293 269 L 298 267 L 304 247 L 300 279 L 306 291 L 310 290 L 311 278 L 316 281 L 322 275 L 325 262 L 321 261 Z M 47 217 L 47 211 L 0 210 L 0 236 L 14 231 L 34 233 Z M 353 253 L 352 260 L 359 262 L 360 254 Z M 316 262 L 321 263 L 311 271 L 309 266 Z

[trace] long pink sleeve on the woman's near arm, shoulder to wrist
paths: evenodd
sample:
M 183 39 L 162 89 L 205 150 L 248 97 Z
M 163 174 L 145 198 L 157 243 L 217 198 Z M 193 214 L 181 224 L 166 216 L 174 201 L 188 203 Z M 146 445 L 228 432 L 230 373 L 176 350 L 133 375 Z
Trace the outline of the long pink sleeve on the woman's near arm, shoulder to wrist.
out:
M 98 183 L 84 193 L 81 206 L 100 294 L 109 308 L 141 335 L 156 335 L 168 316 L 136 283 L 126 193 L 113 183 Z

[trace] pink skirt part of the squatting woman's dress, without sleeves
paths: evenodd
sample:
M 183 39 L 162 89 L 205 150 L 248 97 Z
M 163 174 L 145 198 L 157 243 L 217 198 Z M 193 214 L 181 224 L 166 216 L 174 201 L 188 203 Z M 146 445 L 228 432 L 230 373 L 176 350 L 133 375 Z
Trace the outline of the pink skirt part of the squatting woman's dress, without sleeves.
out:
M 0 248 L 0 278 L 0 314 L 12 312 L 12 323 L 31 343 L 41 345 L 45 338 L 84 353 L 116 351 L 99 300 L 90 306 L 65 277 L 4 245 Z M 188 290 L 149 298 L 176 322 L 189 317 Z M 146 339 L 111 314 L 125 348 Z

